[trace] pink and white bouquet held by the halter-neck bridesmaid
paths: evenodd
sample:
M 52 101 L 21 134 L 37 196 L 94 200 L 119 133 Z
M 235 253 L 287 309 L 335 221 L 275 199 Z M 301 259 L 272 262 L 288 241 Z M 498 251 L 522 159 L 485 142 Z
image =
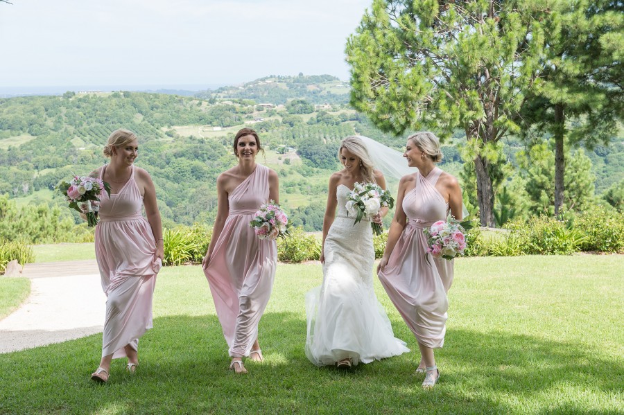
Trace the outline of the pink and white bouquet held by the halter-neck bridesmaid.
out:
M 442 256 L 448 260 L 463 255 L 466 248 L 465 227 L 468 227 L 468 224 L 468 221 L 459 222 L 449 214 L 446 221 L 438 220 L 431 228 L 424 229 L 427 236 L 427 252 L 433 258 Z

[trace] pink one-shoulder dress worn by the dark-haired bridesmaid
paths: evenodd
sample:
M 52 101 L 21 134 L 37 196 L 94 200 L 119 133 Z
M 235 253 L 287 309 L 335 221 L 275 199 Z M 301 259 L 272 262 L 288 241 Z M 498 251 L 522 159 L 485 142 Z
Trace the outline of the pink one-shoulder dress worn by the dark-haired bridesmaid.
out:
M 268 202 L 268 174 L 257 164 L 229 195 L 229 215 L 204 270 L 231 357 L 249 355 L 275 278 L 275 240 L 259 239 L 249 226 Z

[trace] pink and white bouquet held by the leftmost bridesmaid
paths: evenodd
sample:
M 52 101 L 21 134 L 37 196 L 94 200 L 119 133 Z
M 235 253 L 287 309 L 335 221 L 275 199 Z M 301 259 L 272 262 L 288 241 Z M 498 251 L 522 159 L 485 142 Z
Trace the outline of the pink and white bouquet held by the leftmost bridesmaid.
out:
M 98 224 L 96 213 L 99 211 L 100 195 L 106 191 L 110 196 L 110 184 L 96 177 L 74 176 L 69 182 L 60 182 L 58 191 L 62 193 L 71 209 L 87 215 L 87 224 Z M 80 205 L 83 209 L 80 209 Z

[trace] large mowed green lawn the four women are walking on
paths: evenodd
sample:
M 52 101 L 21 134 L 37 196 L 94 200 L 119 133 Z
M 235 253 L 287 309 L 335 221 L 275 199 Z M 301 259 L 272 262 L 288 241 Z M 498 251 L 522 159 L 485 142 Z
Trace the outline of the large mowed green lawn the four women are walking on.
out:
M 260 324 L 265 362 L 229 357 L 198 266 L 158 276 L 141 367 L 114 361 L 89 380 L 101 335 L 0 355 L 0 413 L 615 414 L 624 407 L 624 256 L 462 258 L 449 292 L 441 382 L 422 390 L 417 344 L 375 282 L 395 335 L 412 349 L 350 372 L 304 355 L 304 294 L 319 263 L 280 264 Z

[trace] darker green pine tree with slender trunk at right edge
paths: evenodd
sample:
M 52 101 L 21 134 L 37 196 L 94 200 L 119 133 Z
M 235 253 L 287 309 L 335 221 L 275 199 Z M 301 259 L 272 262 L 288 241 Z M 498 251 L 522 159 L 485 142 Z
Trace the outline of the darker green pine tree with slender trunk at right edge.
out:
M 536 87 L 523 105 L 525 136 L 555 139 L 555 214 L 564 203 L 564 140 L 609 143 L 624 115 L 624 3 L 557 0 L 544 19 L 545 48 Z

